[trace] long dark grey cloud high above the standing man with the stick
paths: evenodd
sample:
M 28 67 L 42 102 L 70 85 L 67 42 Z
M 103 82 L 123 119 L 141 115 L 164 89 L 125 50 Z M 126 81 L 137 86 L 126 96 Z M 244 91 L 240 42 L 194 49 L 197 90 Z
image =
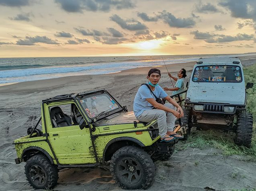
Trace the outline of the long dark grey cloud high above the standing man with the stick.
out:
M 176 18 L 173 14 L 163 11 L 160 13 L 160 17 L 164 20 L 165 23 L 168 23 L 169 26 L 175 28 L 191 28 L 196 22 L 192 17 L 188 18 Z

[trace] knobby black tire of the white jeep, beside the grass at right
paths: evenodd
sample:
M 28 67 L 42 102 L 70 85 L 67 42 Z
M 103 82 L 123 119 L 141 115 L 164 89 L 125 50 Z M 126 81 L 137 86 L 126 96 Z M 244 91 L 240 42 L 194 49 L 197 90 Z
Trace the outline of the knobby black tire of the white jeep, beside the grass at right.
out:
M 253 135 L 253 115 L 246 111 L 238 112 L 235 144 L 250 148 Z

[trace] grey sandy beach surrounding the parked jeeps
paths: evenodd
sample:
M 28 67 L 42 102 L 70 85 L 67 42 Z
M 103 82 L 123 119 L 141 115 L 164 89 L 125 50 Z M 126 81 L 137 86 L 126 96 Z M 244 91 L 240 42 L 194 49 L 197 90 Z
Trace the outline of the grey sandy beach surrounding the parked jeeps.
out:
M 240 57 L 242 64 L 256 63 L 256 56 Z M 181 68 L 189 79 L 194 62 L 169 64 L 173 75 Z M 151 67 L 150 67 L 151 68 Z M 165 65 L 160 85 L 171 87 Z M 16 165 L 16 151 L 12 142 L 26 135 L 41 116 L 41 100 L 66 93 L 106 89 L 122 105 L 132 110 L 133 99 L 140 85 L 147 81 L 149 67 L 128 69 L 105 75 L 79 75 L 63 78 L 28 81 L 0 87 L 0 191 L 32 190 L 26 181 L 24 163 Z M 169 93 L 170 94 L 170 93 Z M 179 142 L 178 144 L 182 144 Z M 237 156 L 224 156 L 221 150 L 187 148 L 173 154 L 166 162 L 158 162 L 153 185 L 149 191 L 231 191 L 256 188 L 256 163 L 244 162 Z M 194 161 L 200 165 L 195 166 Z M 237 178 L 232 173 L 237 172 Z M 108 170 L 101 168 L 72 168 L 59 172 L 55 190 L 59 191 L 118 191 Z

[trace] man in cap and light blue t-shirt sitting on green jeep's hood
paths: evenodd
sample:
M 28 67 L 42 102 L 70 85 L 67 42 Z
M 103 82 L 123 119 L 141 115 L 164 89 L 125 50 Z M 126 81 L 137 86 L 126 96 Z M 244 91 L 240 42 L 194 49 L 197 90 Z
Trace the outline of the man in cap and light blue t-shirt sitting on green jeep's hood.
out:
M 146 84 L 149 85 L 157 98 L 165 98 L 170 103 L 163 105 L 156 102 L 156 98 L 149 87 L 141 85 L 134 98 L 133 110 L 136 118 L 141 122 L 152 122 L 157 119 L 162 142 L 171 142 L 174 139 L 183 138 L 174 133 L 175 117 L 183 117 L 183 111 L 177 102 L 159 86 L 160 78 L 161 72 L 159 69 L 150 69 L 147 75 L 149 81 Z

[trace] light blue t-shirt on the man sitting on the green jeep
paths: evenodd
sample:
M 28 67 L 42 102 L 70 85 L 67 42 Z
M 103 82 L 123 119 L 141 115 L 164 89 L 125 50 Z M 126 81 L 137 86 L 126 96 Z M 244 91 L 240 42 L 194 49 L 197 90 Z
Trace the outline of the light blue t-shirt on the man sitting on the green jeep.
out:
M 146 84 L 148 84 L 148 82 Z M 165 91 L 159 85 L 155 87 L 153 93 L 158 98 L 165 98 L 166 96 L 168 96 L 167 93 L 165 93 Z M 152 110 L 154 108 L 153 105 L 151 105 L 146 100 L 146 98 L 154 98 L 156 100 L 155 96 L 153 96 L 148 87 L 146 85 L 142 85 L 138 89 L 138 92 L 136 93 L 133 102 L 133 111 L 136 117 L 141 115 L 141 113 L 143 113 L 144 110 Z

